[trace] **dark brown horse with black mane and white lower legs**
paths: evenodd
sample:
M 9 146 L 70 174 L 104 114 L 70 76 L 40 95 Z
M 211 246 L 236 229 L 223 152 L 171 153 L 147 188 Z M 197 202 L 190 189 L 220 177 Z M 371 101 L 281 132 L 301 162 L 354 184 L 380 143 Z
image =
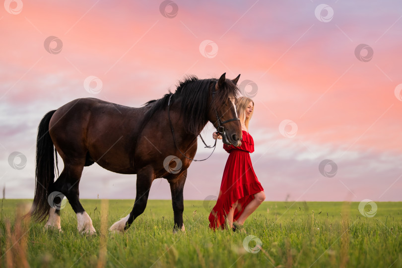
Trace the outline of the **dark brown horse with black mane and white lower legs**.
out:
M 173 232 L 185 231 L 183 188 L 197 152 L 198 135 L 209 121 L 224 143 L 241 145 L 235 107 L 240 74 L 235 79 L 226 79 L 225 74 L 219 79 L 186 76 L 174 93 L 169 89 L 162 98 L 138 108 L 80 98 L 48 112 L 38 127 L 35 193 L 27 215 L 36 222 L 48 218 L 46 229 L 62 231 L 60 198 L 66 197 L 76 214 L 78 232 L 95 234 L 79 201 L 78 186 L 84 166 L 96 162 L 115 173 L 137 175 L 134 207 L 110 231 L 124 232 L 142 214 L 156 178 L 164 178 L 170 185 Z M 57 153 L 64 169 L 55 181 Z

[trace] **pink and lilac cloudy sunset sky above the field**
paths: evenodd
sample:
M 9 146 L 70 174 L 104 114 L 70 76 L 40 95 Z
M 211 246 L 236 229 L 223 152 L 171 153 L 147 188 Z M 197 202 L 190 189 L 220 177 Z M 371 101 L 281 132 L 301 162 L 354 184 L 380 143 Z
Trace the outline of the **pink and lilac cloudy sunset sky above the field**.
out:
M 402 201 L 402 101 L 395 95 L 402 83 L 401 3 L 329 1 L 328 22 L 316 17 L 316 0 L 174 1 L 173 18 L 161 14 L 161 3 L 22 1 L 19 12 L 14 1 L 16 14 L 0 7 L 6 198 L 33 198 L 36 129 L 49 110 L 79 97 L 138 107 L 174 90 L 185 74 L 226 72 L 258 86 L 251 158 L 268 201 Z M 60 53 L 45 50 L 49 36 L 62 40 Z M 201 55 L 204 40 L 216 44 L 214 57 Z M 359 44 L 372 48 L 370 61 L 356 58 Z M 90 75 L 102 81 L 99 94 L 83 86 Z M 280 133 L 283 120 L 297 125 L 294 137 Z M 208 143 L 212 131 L 211 124 L 203 131 Z M 14 151 L 27 157 L 22 170 L 8 164 Z M 196 158 L 209 153 L 200 145 Z M 219 141 L 210 159 L 192 163 L 185 199 L 218 194 L 227 156 Z M 332 178 L 319 172 L 325 159 L 337 165 Z M 135 197 L 135 175 L 96 165 L 83 174 L 81 198 Z M 170 199 L 167 182 L 154 181 L 149 197 Z

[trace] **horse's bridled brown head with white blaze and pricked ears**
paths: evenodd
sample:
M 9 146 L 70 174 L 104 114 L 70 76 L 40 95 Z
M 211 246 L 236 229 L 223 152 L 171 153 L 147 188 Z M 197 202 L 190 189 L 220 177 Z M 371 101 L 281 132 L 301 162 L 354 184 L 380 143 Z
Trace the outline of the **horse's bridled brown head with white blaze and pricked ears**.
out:
M 225 74 L 212 84 L 208 120 L 222 135 L 223 143 L 240 146 L 242 127 L 236 110 L 236 95 L 239 93 L 236 84 L 240 74 L 233 80 L 226 79 Z

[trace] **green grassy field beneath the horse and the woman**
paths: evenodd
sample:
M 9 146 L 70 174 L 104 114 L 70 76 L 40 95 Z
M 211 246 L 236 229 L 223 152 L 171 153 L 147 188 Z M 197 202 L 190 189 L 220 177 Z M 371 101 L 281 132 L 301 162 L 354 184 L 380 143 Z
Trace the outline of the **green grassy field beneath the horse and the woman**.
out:
M 15 221 L 16 208 L 30 201 L 3 200 L 0 267 L 402 267 L 402 202 L 377 202 L 374 217 L 358 202 L 264 202 L 246 221 L 247 234 L 211 231 L 214 201 L 185 201 L 186 232 L 176 234 L 170 200 L 148 201 L 124 234 L 107 230 L 133 200 L 81 202 L 95 236 L 78 234 L 69 204 L 59 233 Z

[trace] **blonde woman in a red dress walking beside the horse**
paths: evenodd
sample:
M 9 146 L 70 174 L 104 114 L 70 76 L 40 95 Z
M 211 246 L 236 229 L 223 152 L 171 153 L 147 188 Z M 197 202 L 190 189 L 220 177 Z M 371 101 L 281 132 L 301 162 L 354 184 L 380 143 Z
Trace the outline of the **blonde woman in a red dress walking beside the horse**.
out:
M 229 153 L 219 197 L 209 214 L 209 227 L 224 229 L 225 222 L 233 231 L 243 229 L 243 223 L 265 200 L 264 189 L 254 173 L 250 153 L 254 152 L 254 140 L 249 134 L 249 122 L 254 112 L 254 102 L 247 97 L 238 98 L 237 114 L 242 125 L 242 145 L 223 144 Z M 221 139 L 219 133 L 212 134 L 214 139 Z

